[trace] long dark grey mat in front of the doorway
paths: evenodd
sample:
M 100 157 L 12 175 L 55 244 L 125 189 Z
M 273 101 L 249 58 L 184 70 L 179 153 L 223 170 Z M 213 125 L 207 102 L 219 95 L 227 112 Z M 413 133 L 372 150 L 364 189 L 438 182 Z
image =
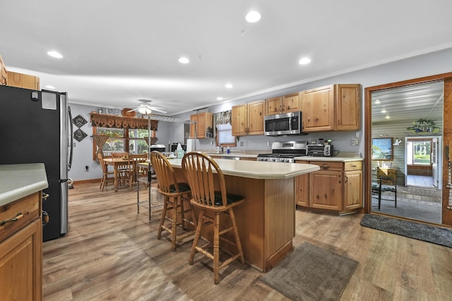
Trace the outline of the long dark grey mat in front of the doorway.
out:
M 376 230 L 385 231 L 397 235 L 432 242 L 436 245 L 452 247 L 452 231 L 423 223 L 392 219 L 386 216 L 375 214 L 365 214 L 361 220 L 361 225 Z

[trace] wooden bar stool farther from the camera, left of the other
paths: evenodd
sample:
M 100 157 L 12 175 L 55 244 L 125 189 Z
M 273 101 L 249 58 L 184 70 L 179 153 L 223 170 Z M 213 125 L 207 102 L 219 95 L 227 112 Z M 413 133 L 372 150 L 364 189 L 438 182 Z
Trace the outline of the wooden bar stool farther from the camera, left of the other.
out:
M 184 209 L 184 199 L 190 199 L 190 188 L 187 183 L 177 183 L 174 169 L 168 159 L 160 152 L 150 153 L 150 161 L 157 176 L 158 192 L 163 195 L 163 211 L 158 226 L 157 239 L 160 240 L 162 231 L 171 234 L 172 250 L 176 250 L 179 240 L 194 234 L 194 231 L 186 231 L 186 224 L 196 228 L 196 215 L 193 207 Z M 167 217 L 167 210 L 172 210 L 172 218 Z M 186 219 L 185 214 L 191 211 L 192 221 Z M 179 219 L 180 216 L 180 219 Z M 171 221 L 171 226 L 165 226 L 165 220 Z M 181 226 L 185 233 L 177 235 L 177 226 Z

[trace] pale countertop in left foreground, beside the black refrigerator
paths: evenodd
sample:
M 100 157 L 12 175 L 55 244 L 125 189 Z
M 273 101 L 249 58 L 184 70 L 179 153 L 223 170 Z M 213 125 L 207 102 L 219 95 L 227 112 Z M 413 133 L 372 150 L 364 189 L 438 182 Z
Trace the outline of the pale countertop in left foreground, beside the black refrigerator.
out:
M 43 163 L 0 165 L 0 206 L 48 187 Z

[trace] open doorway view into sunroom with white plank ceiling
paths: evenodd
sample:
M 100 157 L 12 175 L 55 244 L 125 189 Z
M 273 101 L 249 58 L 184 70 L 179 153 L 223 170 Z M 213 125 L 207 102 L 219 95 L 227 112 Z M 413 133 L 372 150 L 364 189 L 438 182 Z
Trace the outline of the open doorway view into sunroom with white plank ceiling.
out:
M 370 142 L 369 211 L 442 223 L 444 80 L 372 90 L 369 104 L 370 135 L 374 141 Z M 388 156 L 374 154 L 375 141 L 391 142 L 386 149 Z M 376 171 L 381 170 L 395 173 L 396 189 L 380 191 L 379 195 L 375 189 L 379 181 Z M 377 202 L 381 206 L 376 206 Z

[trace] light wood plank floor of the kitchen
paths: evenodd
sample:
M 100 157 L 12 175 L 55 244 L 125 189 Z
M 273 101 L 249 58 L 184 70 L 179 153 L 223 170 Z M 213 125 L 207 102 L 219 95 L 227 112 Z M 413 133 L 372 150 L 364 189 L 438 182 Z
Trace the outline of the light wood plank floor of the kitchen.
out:
M 210 261 L 189 266 L 189 243 L 171 252 L 152 221 L 136 213 L 136 190 L 97 184 L 69 190 L 69 233 L 44 242 L 44 300 L 286 300 L 234 262 L 213 284 Z M 143 190 L 145 197 L 145 190 Z M 359 262 L 340 300 L 450 300 L 452 249 L 359 225 L 362 214 L 296 213 L 302 242 Z M 299 283 L 303 285 L 303 283 Z

